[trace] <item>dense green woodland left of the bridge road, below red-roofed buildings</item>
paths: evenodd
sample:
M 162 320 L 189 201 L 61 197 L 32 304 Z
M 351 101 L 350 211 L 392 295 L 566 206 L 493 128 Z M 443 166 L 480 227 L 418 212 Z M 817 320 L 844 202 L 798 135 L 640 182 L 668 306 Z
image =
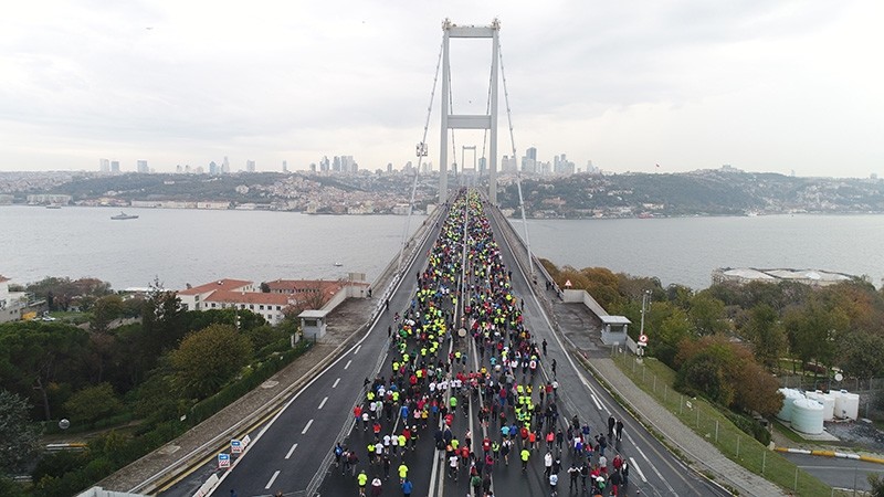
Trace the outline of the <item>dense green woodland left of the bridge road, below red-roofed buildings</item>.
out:
M 53 309 L 76 307 L 80 319 L 0 325 L 0 437 L 12 442 L 0 446 L 0 495 L 76 495 L 309 347 L 292 348 L 292 317 L 272 327 L 244 309 L 186 311 L 159 286 L 124 298 L 96 282 L 46 278 L 27 288 Z M 88 447 L 43 453 L 42 437 L 62 431 L 88 435 Z M 32 485 L 10 479 L 23 474 Z

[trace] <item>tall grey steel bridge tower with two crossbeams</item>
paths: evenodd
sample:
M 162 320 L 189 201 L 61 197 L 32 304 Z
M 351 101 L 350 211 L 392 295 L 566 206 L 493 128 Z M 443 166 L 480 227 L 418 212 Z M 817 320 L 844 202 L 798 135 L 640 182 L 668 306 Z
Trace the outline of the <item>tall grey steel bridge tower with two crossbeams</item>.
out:
M 442 22 L 442 125 L 439 147 L 439 202 L 449 197 L 449 129 L 487 129 L 490 130 L 488 144 L 488 200 L 497 204 L 497 67 L 499 57 L 498 33 L 501 22 L 494 20 L 491 25 L 456 25 L 445 19 Z M 451 87 L 451 65 L 449 63 L 449 43 L 452 38 L 490 39 L 491 47 L 491 91 L 488 114 L 449 114 L 449 98 Z M 456 158 L 455 158 L 456 159 Z

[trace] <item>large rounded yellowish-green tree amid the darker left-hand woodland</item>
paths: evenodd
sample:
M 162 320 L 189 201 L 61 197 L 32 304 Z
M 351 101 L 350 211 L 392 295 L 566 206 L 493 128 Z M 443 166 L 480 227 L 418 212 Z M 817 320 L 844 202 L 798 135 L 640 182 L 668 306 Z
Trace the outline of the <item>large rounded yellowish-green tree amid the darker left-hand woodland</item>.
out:
M 194 331 L 171 353 L 176 382 L 196 399 L 217 392 L 252 357 L 249 338 L 230 325 L 212 325 Z

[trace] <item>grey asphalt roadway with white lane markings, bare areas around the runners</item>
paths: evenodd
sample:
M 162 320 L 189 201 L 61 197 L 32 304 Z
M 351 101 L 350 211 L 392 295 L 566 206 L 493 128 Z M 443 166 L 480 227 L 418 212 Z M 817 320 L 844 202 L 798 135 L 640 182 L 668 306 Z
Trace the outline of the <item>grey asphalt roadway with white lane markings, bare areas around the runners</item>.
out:
M 630 462 L 632 469 L 629 495 L 634 495 L 638 490 L 643 495 L 657 496 L 728 495 L 685 467 L 620 408 L 591 376 L 567 357 L 558 338 L 552 336 L 550 325 L 532 294 L 527 277 L 515 264 L 513 254 L 499 236 L 494 218 L 492 226 L 495 239 L 502 245 L 504 261 L 513 271 L 514 289 L 525 299 L 527 328 L 537 336 L 538 341 L 543 338 L 548 340 L 549 356 L 545 359 L 547 364 L 552 359 L 557 360 L 557 379 L 561 385 L 558 402 L 562 413 L 560 420 L 564 422 L 577 413 L 581 422 L 590 422 L 593 433 L 607 425 L 609 415 L 623 420 L 623 440 L 617 446 L 609 447 L 607 455 L 610 461 L 613 457 L 612 451 L 615 451 Z M 381 466 L 371 467 L 366 464 L 366 444 L 371 440 L 370 430 L 364 432 L 357 429 L 351 432 L 351 411 L 355 403 L 362 399 L 362 380 L 373 378 L 377 371 L 383 371 L 382 368 L 389 368 L 387 327 L 392 313 L 403 309 L 412 298 L 417 286 L 411 275 L 425 265 L 427 250 L 433 241 L 433 236 L 428 239 L 413 265 L 404 272 L 402 284 L 390 299 L 390 309 L 381 315 L 357 346 L 347 350 L 298 392 L 271 423 L 253 436 L 248 452 L 239 457 L 231 470 L 224 473 L 213 495 L 227 496 L 231 489 L 235 489 L 239 497 L 273 495 L 277 490 L 287 496 L 301 496 L 305 489 L 312 487 L 312 483 L 322 480 L 318 490 L 320 495 L 356 496 L 355 479 L 349 475 L 341 476 L 340 469 L 330 464 L 332 448 L 340 441 L 357 447 L 361 461 L 360 469 L 365 468 L 370 477 L 380 474 L 383 478 Z M 475 357 L 475 353 L 471 353 L 472 360 Z M 548 366 L 544 367 L 543 373 L 550 374 Z M 536 381 L 541 381 L 541 378 Z M 453 432 L 462 437 L 470 423 L 476 444 L 481 441 L 482 429 L 477 426 L 475 416 L 455 416 Z M 494 425 L 488 430 L 492 431 L 492 437 L 498 433 Z M 466 474 L 462 473 L 457 482 L 448 478 L 444 462 L 433 447 L 432 431 L 428 430 L 420 435 L 415 450 L 400 457 L 409 466 L 409 479 L 414 484 L 412 495 L 463 497 L 469 490 Z M 396 458 L 393 461 L 389 479 L 383 480 L 385 496 L 402 495 L 396 474 L 399 462 Z M 566 451 L 562 456 L 565 469 L 569 463 Z M 566 495 L 568 478 L 565 474 L 560 476 L 560 494 Z M 511 455 L 508 467 L 498 464 L 493 472 L 493 489 L 498 497 L 548 496 L 549 487 L 543 475 L 543 452 L 533 454 L 525 473 L 520 470 L 517 454 Z M 192 495 L 192 491 L 170 491 L 167 495 Z

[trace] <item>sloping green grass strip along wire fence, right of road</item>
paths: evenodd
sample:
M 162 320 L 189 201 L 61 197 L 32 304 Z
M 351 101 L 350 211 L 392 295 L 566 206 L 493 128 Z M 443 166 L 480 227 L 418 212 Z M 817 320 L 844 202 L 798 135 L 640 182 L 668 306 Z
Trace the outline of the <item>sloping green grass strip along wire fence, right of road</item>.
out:
M 628 353 L 614 353 L 614 362 L 630 379 L 678 420 L 705 438 L 727 458 L 764 476 L 780 487 L 801 496 L 831 497 L 853 495 L 834 489 L 799 468 L 753 435 L 738 429 L 716 406 L 698 398 L 673 390 L 675 373 L 660 361 L 643 360 Z

